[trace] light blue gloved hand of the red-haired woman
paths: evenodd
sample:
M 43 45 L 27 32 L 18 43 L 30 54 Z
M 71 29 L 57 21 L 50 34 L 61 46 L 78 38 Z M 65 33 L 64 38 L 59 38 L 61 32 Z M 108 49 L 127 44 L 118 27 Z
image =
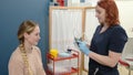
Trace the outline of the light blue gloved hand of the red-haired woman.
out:
M 82 41 L 76 41 L 78 45 L 79 45 L 79 49 L 81 52 L 83 52 L 85 55 L 89 55 L 90 54 L 90 49 L 86 46 L 86 43 L 85 42 L 82 42 Z

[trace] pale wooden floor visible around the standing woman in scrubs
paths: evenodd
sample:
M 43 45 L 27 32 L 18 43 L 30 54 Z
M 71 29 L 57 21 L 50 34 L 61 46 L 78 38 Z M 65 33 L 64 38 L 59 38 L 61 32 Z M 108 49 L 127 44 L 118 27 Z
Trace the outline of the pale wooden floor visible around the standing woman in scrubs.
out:
M 124 66 L 119 66 L 120 75 L 129 75 L 129 71 Z M 72 74 L 78 75 L 78 74 Z M 86 72 L 82 72 L 82 75 L 88 75 Z M 131 75 L 133 75 L 133 71 L 131 72 Z

